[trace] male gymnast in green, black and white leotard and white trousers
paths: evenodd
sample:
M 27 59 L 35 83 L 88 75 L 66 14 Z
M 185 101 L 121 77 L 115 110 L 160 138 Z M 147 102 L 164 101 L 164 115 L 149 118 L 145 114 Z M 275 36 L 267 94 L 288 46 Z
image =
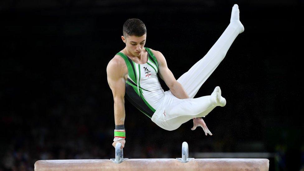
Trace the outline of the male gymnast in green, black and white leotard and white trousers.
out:
M 144 47 L 146 27 L 139 19 L 128 19 L 123 25 L 122 41 L 126 47 L 107 65 L 107 81 L 114 98 L 114 142 L 125 145 L 125 97 L 159 127 L 172 131 L 193 119 L 193 127 L 201 126 L 211 134 L 202 117 L 216 106 L 224 107 L 226 99 L 216 87 L 209 96 L 193 98 L 202 84 L 224 59 L 235 38 L 244 31 L 237 4 L 232 7 L 230 24 L 208 53 L 177 80 L 162 53 Z M 164 92 L 158 76 L 170 90 Z

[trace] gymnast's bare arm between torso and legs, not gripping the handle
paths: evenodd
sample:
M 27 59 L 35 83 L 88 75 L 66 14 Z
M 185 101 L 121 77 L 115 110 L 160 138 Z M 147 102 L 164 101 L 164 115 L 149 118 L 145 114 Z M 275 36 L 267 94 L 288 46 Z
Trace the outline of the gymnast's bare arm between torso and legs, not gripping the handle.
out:
M 179 99 L 189 98 L 183 86 L 176 81 L 172 72 L 168 68 L 164 55 L 155 50 L 153 50 L 153 53 L 155 56 L 157 56 L 157 62 L 159 64 L 159 76 L 170 88 L 171 93 Z

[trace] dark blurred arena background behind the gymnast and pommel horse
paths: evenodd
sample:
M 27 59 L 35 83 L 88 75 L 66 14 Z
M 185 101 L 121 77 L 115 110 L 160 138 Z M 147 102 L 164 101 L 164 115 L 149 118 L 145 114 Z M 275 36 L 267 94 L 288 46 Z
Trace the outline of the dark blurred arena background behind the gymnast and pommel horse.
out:
M 114 158 L 106 67 L 125 47 L 123 23 L 141 19 L 145 46 L 161 51 L 179 78 L 221 36 L 235 3 L 245 32 L 196 95 L 220 86 L 227 100 L 204 118 L 213 135 L 191 131 L 192 121 L 163 130 L 126 101 L 124 157 L 180 157 L 187 141 L 190 153 L 268 152 L 277 156 L 270 170 L 300 170 L 302 0 L 1 1 L 1 169 Z

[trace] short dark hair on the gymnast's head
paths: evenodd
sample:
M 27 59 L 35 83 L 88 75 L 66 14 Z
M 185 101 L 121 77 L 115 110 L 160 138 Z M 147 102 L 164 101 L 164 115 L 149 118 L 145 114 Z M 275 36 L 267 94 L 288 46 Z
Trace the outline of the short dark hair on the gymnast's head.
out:
M 142 36 L 147 33 L 145 24 L 137 18 L 128 19 L 123 26 L 123 35 L 126 36 Z

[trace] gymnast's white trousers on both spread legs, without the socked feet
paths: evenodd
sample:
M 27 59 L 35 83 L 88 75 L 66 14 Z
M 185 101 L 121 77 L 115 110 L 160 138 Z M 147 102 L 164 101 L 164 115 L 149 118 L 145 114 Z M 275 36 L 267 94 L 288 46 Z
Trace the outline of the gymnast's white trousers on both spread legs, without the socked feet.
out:
M 182 84 L 189 98 L 178 99 L 170 90 L 165 92 L 163 102 L 151 118 L 156 125 L 165 130 L 172 131 L 192 118 L 206 116 L 217 106 L 211 100 L 211 96 L 193 97 L 224 59 L 238 34 L 243 31 L 244 27 L 239 20 L 230 21 L 224 33 L 208 53 L 178 78 L 177 81 Z

